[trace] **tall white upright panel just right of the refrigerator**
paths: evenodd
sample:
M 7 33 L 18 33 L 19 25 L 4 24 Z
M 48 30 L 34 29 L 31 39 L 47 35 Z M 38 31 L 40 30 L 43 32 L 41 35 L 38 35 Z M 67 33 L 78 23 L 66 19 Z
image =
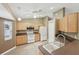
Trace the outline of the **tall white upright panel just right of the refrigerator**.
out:
M 48 21 L 48 42 L 55 40 L 55 19 Z

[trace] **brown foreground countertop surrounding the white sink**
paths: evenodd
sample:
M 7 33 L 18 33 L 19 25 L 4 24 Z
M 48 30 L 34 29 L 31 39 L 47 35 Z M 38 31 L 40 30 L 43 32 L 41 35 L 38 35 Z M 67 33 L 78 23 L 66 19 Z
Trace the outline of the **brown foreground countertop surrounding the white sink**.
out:
M 45 55 L 79 55 L 79 40 L 75 40 L 51 53 L 45 50 L 42 46 L 39 46 L 39 49 Z

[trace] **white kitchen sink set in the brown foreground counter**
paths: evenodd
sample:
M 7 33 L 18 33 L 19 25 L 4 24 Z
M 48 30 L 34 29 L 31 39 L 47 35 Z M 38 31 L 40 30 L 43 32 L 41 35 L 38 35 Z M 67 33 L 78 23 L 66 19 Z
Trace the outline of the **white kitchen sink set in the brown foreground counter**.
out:
M 48 43 L 48 44 L 45 44 L 43 45 L 43 48 L 48 51 L 49 53 L 52 53 L 53 51 L 61 48 L 64 46 L 64 43 L 60 43 L 60 42 L 51 42 L 51 43 Z

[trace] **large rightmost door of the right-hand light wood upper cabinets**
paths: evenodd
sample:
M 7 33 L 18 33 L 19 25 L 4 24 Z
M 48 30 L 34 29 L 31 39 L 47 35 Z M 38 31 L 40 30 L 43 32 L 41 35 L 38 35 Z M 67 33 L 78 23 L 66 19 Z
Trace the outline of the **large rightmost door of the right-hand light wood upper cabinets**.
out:
M 68 15 L 68 32 L 77 32 L 77 13 Z

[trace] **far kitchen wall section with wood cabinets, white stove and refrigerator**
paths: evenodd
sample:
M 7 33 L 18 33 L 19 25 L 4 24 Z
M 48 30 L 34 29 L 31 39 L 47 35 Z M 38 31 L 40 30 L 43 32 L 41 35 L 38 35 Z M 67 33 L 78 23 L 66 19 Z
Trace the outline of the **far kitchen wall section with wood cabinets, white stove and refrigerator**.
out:
M 18 20 L 16 22 L 16 45 L 47 40 L 47 22 L 48 17 Z

